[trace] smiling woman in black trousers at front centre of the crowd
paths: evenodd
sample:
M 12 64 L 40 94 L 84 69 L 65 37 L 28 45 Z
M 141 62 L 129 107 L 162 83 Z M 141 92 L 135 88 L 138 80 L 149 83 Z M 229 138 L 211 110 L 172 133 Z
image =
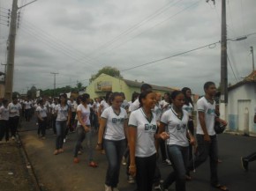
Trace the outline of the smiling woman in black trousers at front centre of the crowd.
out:
M 151 90 L 139 94 L 139 109 L 133 111 L 128 122 L 130 165 L 129 173 L 135 177 L 138 191 L 152 191 L 156 166 L 154 136 L 156 117 L 152 112 L 156 99 Z M 165 132 L 160 134 L 163 139 Z

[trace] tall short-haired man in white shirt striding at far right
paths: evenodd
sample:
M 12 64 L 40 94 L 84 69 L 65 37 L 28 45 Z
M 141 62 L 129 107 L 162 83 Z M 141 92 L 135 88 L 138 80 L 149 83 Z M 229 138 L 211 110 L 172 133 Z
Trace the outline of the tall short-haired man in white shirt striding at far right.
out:
M 204 84 L 205 96 L 197 101 L 197 152 L 195 159 L 191 160 L 188 165 L 187 176 L 191 179 L 189 171 L 197 168 L 203 164 L 207 157 L 210 158 L 210 174 L 212 187 L 220 190 L 228 190 L 228 187 L 222 185 L 218 179 L 218 143 L 215 134 L 215 121 L 227 125 L 226 121 L 218 118 L 215 114 L 215 93 L 216 86 L 214 82 L 207 82 Z

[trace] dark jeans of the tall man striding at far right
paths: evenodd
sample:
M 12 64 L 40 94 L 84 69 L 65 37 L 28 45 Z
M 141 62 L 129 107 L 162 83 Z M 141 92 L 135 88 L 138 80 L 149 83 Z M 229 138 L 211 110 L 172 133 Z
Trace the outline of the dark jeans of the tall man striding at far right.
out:
M 210 170 L 211 170 L 211 184 L 216 185 L 219 183 L 218 180 L 218 145 L 217 145 L 217 136 L 210 136 L 211 142 L 205 142 L 203 135 L 197 135 L 198 148 L 196 156 L 193 161 L 190 161 L 188 165 L 188 170 L 192 171 L 193 168 L 197 168 L 203 164 L 207 157 L 210 157 Z

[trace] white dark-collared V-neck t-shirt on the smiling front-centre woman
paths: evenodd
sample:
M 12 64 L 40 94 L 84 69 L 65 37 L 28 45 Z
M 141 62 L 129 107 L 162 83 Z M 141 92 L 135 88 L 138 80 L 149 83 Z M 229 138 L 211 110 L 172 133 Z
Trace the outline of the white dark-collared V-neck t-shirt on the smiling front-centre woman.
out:
M 155 114 L 153 113 L 151 121 L 147 121 L 142 108 L 139 108 L 132 112 L 128 124 L 129 127 L 137 129 L 135 156 L 140 158 L 152 156 L 156 152 L 154 146 Z

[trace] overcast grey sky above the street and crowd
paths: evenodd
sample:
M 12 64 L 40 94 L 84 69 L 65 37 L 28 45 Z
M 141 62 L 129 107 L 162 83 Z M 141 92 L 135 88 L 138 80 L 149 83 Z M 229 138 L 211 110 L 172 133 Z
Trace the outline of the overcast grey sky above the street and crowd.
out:
M 6 63 L 4 26 L 11 0 L 0 0 L 0 62 Z M 19 0 L 19 7 L 31 0 Z M 221 0 L 38 0 L 20 9 L 13 90 L 88 84 L 104 66 L 125 79 L 202 93 L 206 81 L 220 82 Z M 256 33 L 256 1 L 227 0 L 228 38 Z M 256 34 L 228 41 L 229 83 L 252 72 L 250 47 Z M 177 55 L 194 48 L 199 50 Z M 254 54 L 255 55 L 255 54 Z M 256 56 L 256 55 L 255 55 Z M 149 63 L 153 62 L 153 63 Z M 148 64 L 147 64 L 148 63 Z M 132 69 L 133 67 L 140 66 Z M 230 68 L 230 65 L 232 68 Z M 128 70 L 131 69 L 131 70 Z M 4 66 L 1 65 L 1 71 Z

